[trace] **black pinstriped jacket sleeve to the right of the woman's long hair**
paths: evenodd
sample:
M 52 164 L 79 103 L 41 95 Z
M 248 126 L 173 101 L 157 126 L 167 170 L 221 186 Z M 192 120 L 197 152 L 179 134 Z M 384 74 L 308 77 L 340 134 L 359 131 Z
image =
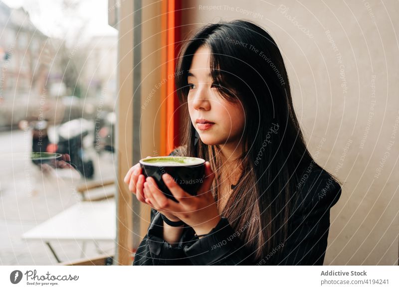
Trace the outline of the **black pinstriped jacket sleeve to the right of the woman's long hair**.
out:
M 323 265 L 330 228 L 330 208 L 340 198 L 341 186 L 330 177 L 321 178 L 322 175 L 310 182 L 306 190 L 303 188 L 279 265 Z M 263 262 L 267 259 L 265 257 Z

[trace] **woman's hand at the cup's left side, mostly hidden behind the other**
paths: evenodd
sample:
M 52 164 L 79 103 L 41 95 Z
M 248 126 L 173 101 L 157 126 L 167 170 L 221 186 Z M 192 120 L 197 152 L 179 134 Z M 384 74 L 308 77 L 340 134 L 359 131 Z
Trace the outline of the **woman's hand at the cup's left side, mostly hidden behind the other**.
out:
M 149 158 L 151 156 L 147 156 L 146 158 Z M 124 182 L 129 186 L 129 190 L 136 195 L 137 200 L 140 202 L 143 202 L 145 204 L 150 205 L 152 208 L 154 208 L 154 205 L 151 204 L 151 202 L 146 202 L 147 197 L 145 196 L 144 193 L 144 182 L 146 182 L 146 178 L 144 174 L 142 173 L 142 169 L 140 166 L 140 163 L 135 164 L 132 166 L 128 173 L 126 174 L 124 178 Z M 147 199 L 148 200 L 148 199 Z M 156 208 L 154 208 L 157 210 Z M 173 214 L 165 211 L 158 210 L 160 213 L 162 213 L 164 216 L 166 216 L 169 220 L 171 221 L 180 221 L 179 218 L 174 216 Z

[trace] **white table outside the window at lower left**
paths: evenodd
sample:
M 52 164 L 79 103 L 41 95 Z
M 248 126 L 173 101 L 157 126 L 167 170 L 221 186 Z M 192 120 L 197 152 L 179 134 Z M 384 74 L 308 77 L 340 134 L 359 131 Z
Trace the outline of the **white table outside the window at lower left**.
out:
M 115 200 L 84 201 L 27 231 L 22 238 L 45 242 L 57 262 L 60 263 L 50 242 L 93 241 L 98 247 L 97 242 L 115 241 L 116 221 Z

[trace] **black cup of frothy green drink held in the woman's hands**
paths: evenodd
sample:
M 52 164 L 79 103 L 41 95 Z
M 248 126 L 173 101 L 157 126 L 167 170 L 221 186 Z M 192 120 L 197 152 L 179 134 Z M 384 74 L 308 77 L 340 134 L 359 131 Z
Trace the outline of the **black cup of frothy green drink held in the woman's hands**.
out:
M 166 186 L 162 175 L 168 173 L 184 191 L 197 195 L 205 177 L 205 160 L 185 156 L 156 156 L 141 159 L 142 173 L 153 177 L 166 197 L 178 202 Z

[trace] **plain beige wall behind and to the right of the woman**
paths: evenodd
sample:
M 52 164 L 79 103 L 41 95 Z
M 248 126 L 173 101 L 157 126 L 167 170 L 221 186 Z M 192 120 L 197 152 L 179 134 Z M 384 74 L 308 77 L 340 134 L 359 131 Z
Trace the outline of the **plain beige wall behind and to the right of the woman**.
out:
M 308 146 L 346 183 L 325 265 L 398 265 L 399 3 L 183 2 L 184 37 L 203 23 L 246 18 L 279 45 Z

